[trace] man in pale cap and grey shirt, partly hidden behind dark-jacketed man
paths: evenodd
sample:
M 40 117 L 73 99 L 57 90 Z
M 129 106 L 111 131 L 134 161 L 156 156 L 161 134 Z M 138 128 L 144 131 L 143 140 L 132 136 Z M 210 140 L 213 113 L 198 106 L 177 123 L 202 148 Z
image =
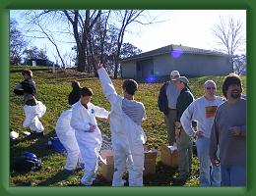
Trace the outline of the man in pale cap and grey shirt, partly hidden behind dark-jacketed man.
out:
M 177 77 L 179 77 L 178 71 L 170 73 L 170 81 L 165 82 L 161 86 L 158 100 L 160 112 L 164 114 L 168 144 L 170 146 L 175 142 L 176 101 L 180 92 L 175 86 L 175 79 Z

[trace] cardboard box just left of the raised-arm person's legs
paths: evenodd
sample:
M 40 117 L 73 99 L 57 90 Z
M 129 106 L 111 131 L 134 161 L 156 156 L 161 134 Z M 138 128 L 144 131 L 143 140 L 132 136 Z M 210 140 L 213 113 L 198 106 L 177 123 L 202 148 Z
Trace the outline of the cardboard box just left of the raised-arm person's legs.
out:
M 102 175 L 107 181 L 111 181 L 114 173 L 113 152 L 111 150 L 100 151 L 100 160 L 102 162 Z

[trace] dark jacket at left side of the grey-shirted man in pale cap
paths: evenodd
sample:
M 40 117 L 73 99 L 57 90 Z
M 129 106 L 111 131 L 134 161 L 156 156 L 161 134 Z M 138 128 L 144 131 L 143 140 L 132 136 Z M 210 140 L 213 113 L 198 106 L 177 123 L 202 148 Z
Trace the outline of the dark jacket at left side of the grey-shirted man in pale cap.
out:
M 168 99 L 166 95 L 166 88 L 168 86 L 168 81 L 166 81 L 161 87 L 160 87 L 160 95 L 158 99 L 158 105 L 160 108 L 160 112 L 162 112 L 164 115 L 168 115 Z

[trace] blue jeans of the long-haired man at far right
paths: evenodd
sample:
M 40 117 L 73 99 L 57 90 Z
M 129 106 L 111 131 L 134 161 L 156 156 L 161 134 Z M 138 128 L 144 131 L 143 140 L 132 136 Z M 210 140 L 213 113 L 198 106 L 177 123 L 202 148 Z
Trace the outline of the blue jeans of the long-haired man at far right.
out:
M 246 167 L 222 165 L 222 186 L 245 186 Z

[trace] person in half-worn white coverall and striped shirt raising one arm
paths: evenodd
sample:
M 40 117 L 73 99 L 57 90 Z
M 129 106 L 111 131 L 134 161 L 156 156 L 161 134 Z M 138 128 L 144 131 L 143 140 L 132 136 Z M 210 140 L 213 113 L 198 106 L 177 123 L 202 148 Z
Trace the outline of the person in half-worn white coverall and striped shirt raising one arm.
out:
M 106 98 L 111 104 L 110 129 L 114 157 L 112 186 L 123 186 L 125 165 L 129 172 L 129 186 L 143 185 L 144 148 L 146 135 L 142 129 L 142 120 L 146 118 L 143 103 L 134 100 L 138 84 L 133 79 L 123 82 L 123 95 L 117 95 L 115 88 L 98 64 L 97 73 Z

